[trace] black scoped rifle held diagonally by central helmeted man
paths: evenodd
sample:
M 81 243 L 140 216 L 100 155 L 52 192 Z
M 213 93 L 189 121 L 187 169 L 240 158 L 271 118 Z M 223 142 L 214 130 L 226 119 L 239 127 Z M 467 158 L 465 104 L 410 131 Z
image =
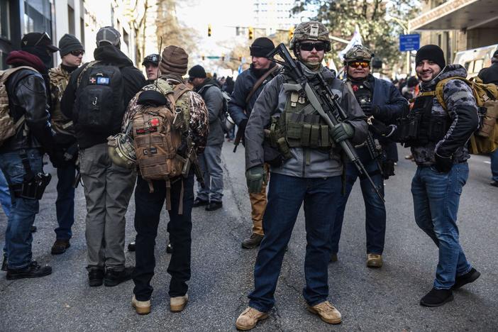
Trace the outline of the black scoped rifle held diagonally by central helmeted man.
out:
M 282 60 L 276 60 L 275 55 L 280 55 Z M 316 74 L 316 79 L 309 80 L 301 71 L 301 68 L 292 59 L 289 50 L 285 47 L 284 43 L 280 43 L 272 52 L 266 56 L 273 62 L 284 66 L 286 72 L 297 82 L 297 84 L 284 83 L 285 91 L 299 92 L 301 96 L 306 96 L 311 106 L 318 111 L 323 121 L 327 123 L 329 128 L 334 128 L 338 123 L 345 121 L 348 116 L 338 103 L 338 96 L 334 94 L 321 73 Z M 316 82 L 316 80 L 318 82 Z M 360 175 L 367 177 L 372 188 L 375 189 L 377 195 L 384 201 L 384 197 L 380 193 L 379 188 L 375 186 L 370 175 L 368 175 L 365 166 L 360 161 L 353 144 L 350 140 L 342 140 L 339 145 L 348 156 L 348 159 L 355 164 Z

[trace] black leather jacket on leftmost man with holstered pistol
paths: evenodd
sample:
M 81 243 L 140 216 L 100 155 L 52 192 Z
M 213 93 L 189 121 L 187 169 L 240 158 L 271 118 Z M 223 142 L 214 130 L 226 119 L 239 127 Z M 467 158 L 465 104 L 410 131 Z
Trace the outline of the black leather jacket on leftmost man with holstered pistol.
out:
M 14 123 L 25 116 L 28 131 L 25 135 L 24 127 L 21 126 L 16 135 L 1 145 L 0 152 L 43 148 L 51 153 L 54 140 L 50 129 L 47 89 L 41 74 L 34 70 L 18 70 L 7 79 L 6 90 L 9 96 L 9 113 Z

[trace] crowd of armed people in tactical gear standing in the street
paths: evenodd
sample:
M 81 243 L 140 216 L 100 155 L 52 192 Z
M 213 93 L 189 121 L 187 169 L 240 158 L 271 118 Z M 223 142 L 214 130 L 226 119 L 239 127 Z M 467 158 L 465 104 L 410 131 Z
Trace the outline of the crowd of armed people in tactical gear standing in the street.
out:
M 453 300 L 455 289 L 480 277 L 465 258 L 457 226 L 468 177 L 467 143 L 479 123 L 475 96 L 461 80 L 467 72 L 447 65 L 438 46 L 425 45 L 416 53 L 417 77 L 392 84 L 373 77 L 375 55 L 356 45 L 345 55 L 341 80 L 322 65 L 331 50 L 328 35 L 322 23 L 300 23 L 289 45 L 292 66 L 270 59 L 272 40 L 255 39 L 252 63 L 235 82 L 217 80 L 201 65 L 188 69 L 189 55 L 175 45 L 143 59 L 145 79 L 121 52 L 121 35 L 110 26 L 96 34 L 94 60 L 84 64 L 84 47 L 74 35 L 64 35 L 58 48 L 46 33 L 24 35 L 21 50 L 7 57 L 12 68 L 1 72 L 0 81 L 0 94 L 2 84 L 6 94 L 0 109 L 8 111 L 0 116 L 11 119 L 0 138 L 6 279 L 52 272 L 33 260 L 31 250 L 38 202 L 50 182 L 43 172 L 46 153 L 57 168 L 58 227 L 51 253 L 70 248 L 74 187 L 81 177 L 88 284 L 112 287 L 133 279 L 132 304 L 138 314 L 148 314 L 155 238 L 166 206 L 170 310 L 182 311 L 189 299 L 192 209 L 223 208 L 221 148 L 226 138 L 239 139 L 245 145 L 253 221 L 240 245 L 259 250 L 254 289 L 236 327 L 255 327 L 275 305 L 282 260 L 303 204 L 307 309 L 327 323 L 341 323 L 341 313 L 328 301 L 328 264 L 339 259 L 348 197 L 358 179 L 365 201 L 365 265 L 381 268 L 384 180 L 394 176 L 396 143 L 402 142 L 411 147 L 417 165 L 411 184 L 416 223 L 439 251 L 433 287 L 420 304 Z M 62 63 L 50 68 L 53 52 L 60 52 Z M 498 82 L 498 52 L 493 62 L 480 74 L 485 83 Z M 444 104 L 435 93 L 442 80 Z M 307 89 L 311 85 L 319 89 Z M 343 111 L 338 121 L 329 113 L 333 109 L 321 106 L 332 100 Z M 227 114 L 238 128 L 237 138 L 223 127 Z M 354 146 L 357 160 L 348 160 L 345 146 Z M 498 155 L 492 156 L 497 187 Z M 135 251 L 135 266 L 128 266 L 125 214 L 133 191 L 136 237 L 128 250 Z

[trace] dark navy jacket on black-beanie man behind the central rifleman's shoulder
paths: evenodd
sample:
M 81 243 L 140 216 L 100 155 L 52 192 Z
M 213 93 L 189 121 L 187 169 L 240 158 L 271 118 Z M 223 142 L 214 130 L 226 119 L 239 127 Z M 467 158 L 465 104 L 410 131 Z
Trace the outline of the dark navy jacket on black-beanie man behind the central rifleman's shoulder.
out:
M 275 64 L 272 62 L 270 68 L 274 66 Z M 270 70 L 270 68 L 268 70 Z M 254 70 L 253 65 L 250 65 L 248 70 L 245 70 L 238 75 L 231 99 L 228 102 L 228 113 L 230 113 L 231 118 L 233 118 L 233 121 L 235 121 L 237 125 L 240 124 L 240 121 L 247 120 L 249 118 L 250 112 L 253 110 L 256 99 L 258 99 L 263 87 L 265 87 L 265 84 L 270 82 L 273 77 L 277 76 L 279 70 L 275 70 L 275 72 L 270 74 L 270 76 L 262 82 L 260 87 L 256 89 L 255 93 L 246 104 L 245 99 L 253 89 L 254 84 L 258 82 L 258 79 L 260 79 L 265 72 L 267 72 L 267 70 Z

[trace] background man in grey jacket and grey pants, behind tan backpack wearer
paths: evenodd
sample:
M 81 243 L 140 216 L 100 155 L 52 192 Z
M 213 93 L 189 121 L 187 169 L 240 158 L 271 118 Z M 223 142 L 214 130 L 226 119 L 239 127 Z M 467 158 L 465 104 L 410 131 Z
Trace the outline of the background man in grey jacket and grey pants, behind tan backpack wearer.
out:
M 221 147 L 224 141 L 220 112 L 223 111 L 223 94 L 216 79 L 206 78 L 206 71 L 200 65 L 189 70 L 189 82 L 194 91 L 202 96 L 209 111 L 209 136 L 204 153 L 199 155 L 199 165 L 204 175 L 204 188 L 199 184 L 194 207 L 206 206 L 214 211 L 223 206 L 223 168 L 221 168 Z

